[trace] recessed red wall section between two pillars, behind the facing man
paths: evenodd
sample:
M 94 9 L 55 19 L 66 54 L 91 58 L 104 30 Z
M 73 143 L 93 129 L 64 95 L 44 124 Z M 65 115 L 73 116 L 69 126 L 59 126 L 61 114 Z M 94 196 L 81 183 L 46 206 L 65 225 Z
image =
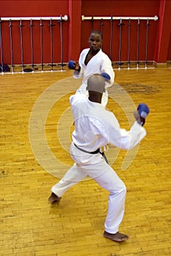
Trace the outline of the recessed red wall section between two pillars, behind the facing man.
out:
M 156 1 L 82 1 L 82 15 L 85 16 L 107 16 L 110 17 L 153 17 L 159 13 L 160 0 Z M 94 21 L 94 29 L 101 30 L 101 20 Z M 110 20 L 103 20 L 103 50 L 107 55 L 110 54 Z M 119 58 L 119 38 L 120 26 L 119 20 L 113 20 L 113 48 L 111 59 L 118 61 Z M 128 20 L 122 20 L 124 24 L 121 28 L 121 60 L 128 60 Z M 139 60 L 145 60 L 146 56 L 146 26 L 147 20 L 140 20 L 140 53 Z M 158 21 L 149 20 L 150 26 L 148 27 L 148 60 L 153 61 L 156 31 L 158 28 Z M 92 29 L 91 21 L 85 20 L 82 22 L 81 34 L 81 49 L 87 48 L 87 39 Z M 130 56 L 132 61 L 137 60 L 137 21 L 131 21 L 131 47 Z

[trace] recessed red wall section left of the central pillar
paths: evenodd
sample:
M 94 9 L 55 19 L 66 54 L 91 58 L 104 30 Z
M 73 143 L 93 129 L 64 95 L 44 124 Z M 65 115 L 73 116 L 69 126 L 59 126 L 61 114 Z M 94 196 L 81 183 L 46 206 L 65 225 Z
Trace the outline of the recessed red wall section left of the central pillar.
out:
M 68 13 L 68 1 L 1 1 L 0 15 L 1 17 L 52 17 L 64 16 Z M 22 21 L 23 34 L 23 61 L 31 64 L 31 31 L 30 21 Z M 40 50 L 40 22 L 33 20 L 33 37 L 34 37 L 34 63 L 41 62 Z M 42 39 L 43 39 L 43 61 L 50 63 L 50 20 L 42 20 Z M 60 38 L 60 22 L 53 20 L 53 62 L 61 62 L 61 38 Z M 68 61 L 68 21 L 62 22 L 63 26 L 63 44 L 64 56 L 63 61 Z M 9 38 L 9 22 L 1 21 L 1 34 L 3 45 L 4 63 L 11 63 L 10 55 L 10 38 Z M 20 21 L 12 21 L 12 46 L 14 64 L 21 64 L 20 51 Z

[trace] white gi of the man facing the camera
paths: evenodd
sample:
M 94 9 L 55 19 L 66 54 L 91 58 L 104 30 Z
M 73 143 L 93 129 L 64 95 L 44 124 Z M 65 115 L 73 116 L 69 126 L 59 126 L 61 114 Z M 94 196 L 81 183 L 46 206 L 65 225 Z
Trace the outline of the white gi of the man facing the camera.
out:
M 99 50 L 96 55 L 88 61 L 88 64 L 85 64 L 86 56 L 90 48 L 84 49 L 80 53 L 79 58 L 79 65 L 80 65 L 80 72 L 74 71 L 73 76 L 74 78 L 83 78 L 82 84 L 79 89 L 77 89 L 77 93 L 85 93 L 88 95 L 88 91 L 86 91 L 87 87 L 87 80 L 91 75 L 94 74 L 102 74 L 102 72 L 107 73 L 110 75 L 110 83 L 106 82 L 105 89 L 112 86 L 114 83 L 115 73 L 113 71 L 112 62 L 110 61 L 109 57 L 101 50 Z M 107 105 L 108 101 L 108 93 L 107 90 L 103 93 L 102 96 L 102 105 L 104 107 Z

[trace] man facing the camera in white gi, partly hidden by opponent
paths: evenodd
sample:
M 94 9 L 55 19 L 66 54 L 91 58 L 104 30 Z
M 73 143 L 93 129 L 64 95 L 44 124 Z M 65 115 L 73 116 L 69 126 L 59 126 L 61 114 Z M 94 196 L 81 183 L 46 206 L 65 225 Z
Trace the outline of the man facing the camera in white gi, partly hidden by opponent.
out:
M 80 53 L 79 62 L 69 61 L 69 68 L 74 69 L 74 78 L 83 78 L 77 93 L 86 93 L 87 80 L 93 74 L 102 74 L 106 80 L 105 91 L 102 97 L 102 105 L 106 106 L 108 101 L 107 88 L 113 85 L 115 73 L 112 62 L 102 51 L 102 34 L 94 30 L 88 38 L 89 48 Z

